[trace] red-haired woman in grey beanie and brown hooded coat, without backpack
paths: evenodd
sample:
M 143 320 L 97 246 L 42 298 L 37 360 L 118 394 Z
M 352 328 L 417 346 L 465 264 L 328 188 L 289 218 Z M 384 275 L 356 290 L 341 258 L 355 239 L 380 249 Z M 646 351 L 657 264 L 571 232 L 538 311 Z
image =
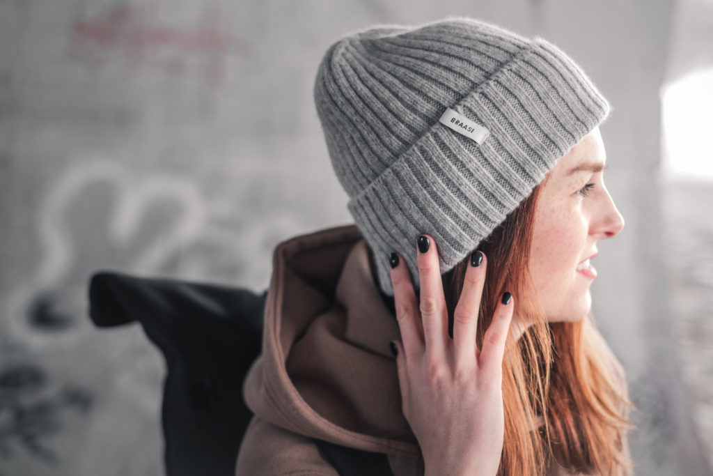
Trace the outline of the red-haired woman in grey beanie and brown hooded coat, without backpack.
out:
M 329 442 L 397 476 L 629 474 L 624 372 L 589 316 L 624 224 L 592 81 L 449 17 L 344 36 L 314 97 L 355 225 L 275 250 L 237 473 L 338 474 Z

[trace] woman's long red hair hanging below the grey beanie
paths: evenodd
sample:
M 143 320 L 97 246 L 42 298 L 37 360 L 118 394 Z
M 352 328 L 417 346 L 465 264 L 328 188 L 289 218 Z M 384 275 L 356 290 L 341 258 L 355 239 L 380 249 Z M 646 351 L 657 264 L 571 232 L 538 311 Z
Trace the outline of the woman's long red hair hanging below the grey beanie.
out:
M 627 412 L 634 405 L 623 370 L 591 315 L 577 322 L 548 323 L 528 272 L 542 185 L 478 246 L 488 257 L 478 348 L 505 291 L 515 297 L 513 324 L 515 318 L 533 323 L 517 341 L 511 335 L 506 343 L 505 439 L 498 475 L 542 475 L 553 459 L 570 472 L 626 474 L 632 462 L 624 448 L 625 435 L 633 427 Z M 442 276 L 451 320 L 468 260 Z

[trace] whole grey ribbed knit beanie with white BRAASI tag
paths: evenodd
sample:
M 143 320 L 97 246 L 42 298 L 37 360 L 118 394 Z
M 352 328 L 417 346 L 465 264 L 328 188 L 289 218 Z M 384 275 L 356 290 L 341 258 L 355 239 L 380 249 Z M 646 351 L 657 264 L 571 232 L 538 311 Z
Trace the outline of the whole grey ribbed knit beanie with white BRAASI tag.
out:
M 319 64 L 314 101 L 386 295 L 391 252 L 419 289 L 427 233 L 441 274 L 451 270 L 610 111 L 557 46 L 454 16 L 343 36 Z

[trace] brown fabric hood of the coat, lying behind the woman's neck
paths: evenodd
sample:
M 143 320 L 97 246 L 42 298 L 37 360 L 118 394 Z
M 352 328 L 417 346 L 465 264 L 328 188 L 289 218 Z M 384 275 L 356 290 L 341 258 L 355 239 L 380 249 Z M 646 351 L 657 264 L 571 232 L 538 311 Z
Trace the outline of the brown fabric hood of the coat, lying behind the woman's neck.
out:
M 262 355 L 245 380 L 245 402 L 299 435 L 418 456 L 389 350 L 399 338 L 356 226 L 286 240 L 273 253 Z

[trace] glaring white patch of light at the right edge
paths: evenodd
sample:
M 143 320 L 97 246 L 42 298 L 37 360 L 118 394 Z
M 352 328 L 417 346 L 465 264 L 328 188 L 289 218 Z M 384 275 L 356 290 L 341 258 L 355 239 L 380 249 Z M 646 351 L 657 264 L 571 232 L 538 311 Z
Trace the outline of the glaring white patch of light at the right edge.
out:
M 713 69 L 662 88 L 663 172 L 713 181 Z

